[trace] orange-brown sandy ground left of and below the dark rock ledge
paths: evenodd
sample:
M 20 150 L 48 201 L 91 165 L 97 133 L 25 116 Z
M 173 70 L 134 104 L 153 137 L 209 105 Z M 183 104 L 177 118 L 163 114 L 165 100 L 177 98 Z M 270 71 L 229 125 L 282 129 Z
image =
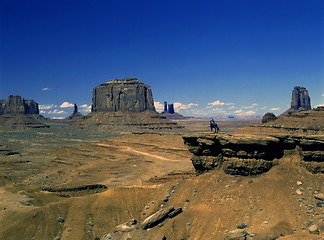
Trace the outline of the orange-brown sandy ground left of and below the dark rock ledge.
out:
M 177 134 L 27 139 L 0 144 L 0 239 L 217 240 L 242 225 L 250 239 L 323 239 L 309 227 L 324 232 L 324 177 L 294 152 L 259 176 L 196 175 Z M 183 212 L 114 235 L 169 206 Z

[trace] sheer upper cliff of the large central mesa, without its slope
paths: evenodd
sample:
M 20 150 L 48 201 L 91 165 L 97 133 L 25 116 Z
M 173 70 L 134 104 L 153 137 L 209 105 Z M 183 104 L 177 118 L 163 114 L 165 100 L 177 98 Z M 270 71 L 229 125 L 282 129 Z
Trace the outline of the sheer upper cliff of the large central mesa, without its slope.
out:
M 137 78 L 113 79 L 93 89 L 92 112 L 155 111 L 150 86 Z

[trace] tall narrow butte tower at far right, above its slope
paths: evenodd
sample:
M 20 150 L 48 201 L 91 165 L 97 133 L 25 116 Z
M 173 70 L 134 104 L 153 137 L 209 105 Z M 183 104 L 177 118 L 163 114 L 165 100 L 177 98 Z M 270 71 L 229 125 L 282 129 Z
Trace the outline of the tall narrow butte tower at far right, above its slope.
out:
M 295 111 L 311 109 L 310 97 L 306 88 L 301 86 L 294 88 L 292 91 L 291 109 Z

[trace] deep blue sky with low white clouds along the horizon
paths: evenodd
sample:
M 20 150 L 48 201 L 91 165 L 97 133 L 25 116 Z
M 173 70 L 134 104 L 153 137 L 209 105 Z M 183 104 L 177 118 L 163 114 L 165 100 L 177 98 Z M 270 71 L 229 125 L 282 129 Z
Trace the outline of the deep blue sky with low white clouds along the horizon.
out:
M 184 115 L 280 114 L 296 85 L 324 105 L 324 1 L 0 0 L 0 99 L 86 114 L 125 77 Z

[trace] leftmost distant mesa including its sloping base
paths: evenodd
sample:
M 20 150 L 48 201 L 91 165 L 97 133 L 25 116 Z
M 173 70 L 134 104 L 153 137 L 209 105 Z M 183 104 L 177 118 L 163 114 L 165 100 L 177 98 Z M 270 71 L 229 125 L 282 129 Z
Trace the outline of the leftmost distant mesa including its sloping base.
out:
M 25 100 L 21 96 L 14 95 L 10 95 L 8 99 L 0 100 L 1 129 L 48 127 L 38 121 L 39 118 L 38 103 L 34 100 Z

